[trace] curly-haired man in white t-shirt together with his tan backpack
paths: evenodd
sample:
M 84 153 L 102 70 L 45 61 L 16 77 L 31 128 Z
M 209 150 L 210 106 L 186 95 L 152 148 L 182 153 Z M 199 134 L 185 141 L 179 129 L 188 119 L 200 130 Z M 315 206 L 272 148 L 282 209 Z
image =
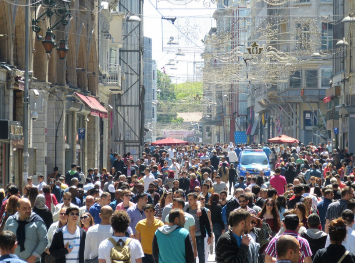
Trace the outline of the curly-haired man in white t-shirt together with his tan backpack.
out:
M 98 247 L 98 262 L 130 262 L 142 263 L 143 249 L 136 239 L 126 237 L 129 227 L 129 215 L 126 211 L 116 210 L 111 217 L 114 235 L 103 240 Z

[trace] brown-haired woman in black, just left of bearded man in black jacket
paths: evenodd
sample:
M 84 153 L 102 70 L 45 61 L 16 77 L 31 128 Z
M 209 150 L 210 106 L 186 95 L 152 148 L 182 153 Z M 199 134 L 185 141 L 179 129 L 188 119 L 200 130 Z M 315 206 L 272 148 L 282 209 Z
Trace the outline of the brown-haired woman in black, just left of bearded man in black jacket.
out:
M 222 206 L 220 195 L 217 193 L 209 197 L 208 204 L 205 205 L 211 211 L 212 229 L 215 234 L 215 247 L 218 239 L 224 234 L 224 222 L 222 219 Z

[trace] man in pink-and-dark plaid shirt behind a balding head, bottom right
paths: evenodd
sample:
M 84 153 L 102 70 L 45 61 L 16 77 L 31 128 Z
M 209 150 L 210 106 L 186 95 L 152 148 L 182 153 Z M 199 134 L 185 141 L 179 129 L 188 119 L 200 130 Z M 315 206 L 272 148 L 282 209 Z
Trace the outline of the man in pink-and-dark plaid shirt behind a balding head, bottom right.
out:
M 309 247 L 308 241 L 304 238 L 301 238 L 298 233 L 296 232 L 296 230 L 299 228 L 300 225 L 300 219 L 298 218 L 298 215 L 296 214 L 290 214 L 287 215 L 285 217 L 285 222 L 284 222 L 284 226 L 286 228 L 286 231 L 282 234 L 283 235 L 290 235 L 293 236 L 297 239 L 297 241 L 300 243 L 300 247 L 301 247 L 301 257 L 299 260 L 299 263 L 311 263 L 312 262 L 312 251 Z M 265 263 L 272 263 L 275 260 L 273 260 L 273 257 L 276 257 L 276 259 L 278 258 L 277 256 L 277 251 L 276 251 L 276 244 L 277 244 L 277 240 L 280 237 L 275 237 L 273 238 L 269 245 L 267 246 L 265 252 Z

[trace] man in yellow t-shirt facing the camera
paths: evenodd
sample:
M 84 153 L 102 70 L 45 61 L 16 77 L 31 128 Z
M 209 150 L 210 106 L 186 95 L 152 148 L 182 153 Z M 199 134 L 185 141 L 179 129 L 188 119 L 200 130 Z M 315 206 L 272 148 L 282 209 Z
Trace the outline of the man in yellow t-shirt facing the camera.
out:
M 140 244 L 143 248 L 144 257 L 142 258 L 143 263 L 154 263 L 153 259 L 153 238 L 154 233 L 159 227 L 164 226 L 164 223 L 154 218 L 155 208 L 152 204 L 147 204 L 143 207 L 146 219 L 140 220 L 135 227 L 136 240 L 140 240 Z

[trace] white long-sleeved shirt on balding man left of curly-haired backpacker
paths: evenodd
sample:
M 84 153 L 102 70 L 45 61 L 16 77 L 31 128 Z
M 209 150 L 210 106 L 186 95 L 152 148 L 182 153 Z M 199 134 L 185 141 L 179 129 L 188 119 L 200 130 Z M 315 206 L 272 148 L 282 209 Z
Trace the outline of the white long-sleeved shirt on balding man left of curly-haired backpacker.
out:
M 95 226 L 90 227 L 86 232 L 84 260 L 96 257 L 100 243 L 113 235 L 114 231 L 110 224 L 95 224 Z

